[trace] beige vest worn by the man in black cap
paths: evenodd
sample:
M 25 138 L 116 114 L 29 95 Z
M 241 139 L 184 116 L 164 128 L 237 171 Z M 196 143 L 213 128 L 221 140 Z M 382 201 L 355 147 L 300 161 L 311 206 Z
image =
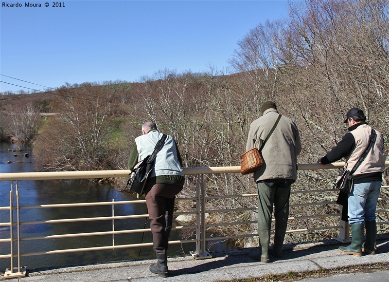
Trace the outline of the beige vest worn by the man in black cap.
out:
M 374 142 L 374 145 L 368 152 L 364 161 L 354 172 L 355 175 L 371 172 L 383 172 L 385 169 L 385 154 L 383 151 L 384 139 L 380 132 L 375 132 L 377 133 L 377 138 Z M 368 147 L 371 135 L 371 127 L 367 124 L 363 124 L 358 126 L 350 133 L 354 136 L 355 149 L 351 152 L 350 156 L 346 158 L 348 170 L 354 168 L 355 163 Z

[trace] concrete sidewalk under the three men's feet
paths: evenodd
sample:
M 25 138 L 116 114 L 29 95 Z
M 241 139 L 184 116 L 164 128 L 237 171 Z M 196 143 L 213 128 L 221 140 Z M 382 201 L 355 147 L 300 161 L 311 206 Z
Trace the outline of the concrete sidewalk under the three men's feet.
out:
M 50 270 L 30 270 L 27 277 L 4 279 L 9 282 L 128 282 L 128 281 L 217 281 L 253 277 L 263 277 L 266 274 L 286 274 L 289 271 L 303 272 L 320 269 L 334 269 L 353 265 L 371 263 L 389 263 L 388 236 L 377 240 L 377 254 L 362 257 L 341 254 L 337 248 L 341 245 L 335 240 L 310 244 L 286 244 L 283 258 L 270 257 L 272 263 L 261 263 L 248 257 L 248 252 L 254 248 L 231 250 L 228 252 L 211 253 L 212 258 L 195 260 L 192 256 L 169 258 L 168 278 L 161 278 L 149 271 L 149 265 L 156 260 L 139 260 L 118 263 L 102 263 L 87 266 L 56 268 Z M 363 275 L 360 273 L 359 275 Z M 377 279 L 368 281 L 389 282 L 389 270 L 377 272 Z M 339 278 L 340 277 L 340 278 Z M 3 280 L 1 276 L 0 280 Z M 318 280 L 330 281 L 330 280 Z M 337 280 L 355 281 L 354 276 L 337 275 Z

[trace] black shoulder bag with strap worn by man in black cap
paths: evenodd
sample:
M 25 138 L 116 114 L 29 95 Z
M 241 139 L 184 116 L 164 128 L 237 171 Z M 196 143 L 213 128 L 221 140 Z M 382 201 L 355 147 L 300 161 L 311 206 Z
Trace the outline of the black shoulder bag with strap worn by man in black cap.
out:
M 344 193 L 347 193 L 347 194 L 351 193 L 351 191 L 353 190 L 353 187 L 354 187 L 353 174 L 354 174 L 355 170 L 359 167 L 359 165 L 363 162 L 363 160 L 366 158 L 366 156 L 368 155 L 368 152 L 371 150 L 371 147 L 373 147 L 373 144 L 374 144 L 376 138 L 377 138 L 377 133 L 375 133 L 375 131 L 372 129 L 368 147 L 365 149 L 365 151 L 359 157 L 358 161 L 354 165 L 354 168 L 351 169 L 351 171 L 348 171 L 346 169 L 346 167 L 347 167 L 347 163 L 346 163 L 346 165 L 340 171 L 339 175 L 336 178 L 336 182 L 335 182 L 334 187 L 333 187 L 334 189 L 338 189 L 338 190 L 340 190 Z

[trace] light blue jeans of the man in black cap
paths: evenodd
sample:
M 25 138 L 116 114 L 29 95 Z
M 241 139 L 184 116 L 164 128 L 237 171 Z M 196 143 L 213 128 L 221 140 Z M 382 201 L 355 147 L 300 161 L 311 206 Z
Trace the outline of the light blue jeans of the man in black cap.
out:
M 380 181 L 354 184 L 348 199 L 349 224 L 364 224 L 365 221 L 375 220 L 380 188 Z

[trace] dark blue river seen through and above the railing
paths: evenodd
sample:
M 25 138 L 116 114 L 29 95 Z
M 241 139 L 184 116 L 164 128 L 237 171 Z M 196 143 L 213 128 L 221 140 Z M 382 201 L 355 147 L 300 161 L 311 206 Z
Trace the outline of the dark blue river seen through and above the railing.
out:
M 0 172 L 33 172 L 34 157 L 31 151 L 9 143 L 0 143 Z M 24 154 L 29 153 L 26 157 Z M 10 161 L 11 163 L 7 163 Z M 0 206 L 9 206 L 9 191 L 11 182 L 0 181 Z M 44 204 L 65 204 L 65 203 L 87 203 L 87 202 L 111 202 L 135 200 L 132 194 L 119 192 L 114 186 L 98 184 L 82 180 L 31 180 L 18 181 L 20 206 L 44 205 Z M 16 205 L 16 203 L 14 203 Z M 129 214 L 147 214 L 146 205 L 117 205 L 115 216 Z M 80 217 L 102 217 L 112 215 L 111 206 L 98 207 L 62 207 L 43 209 L 22 209 L 20 221 L 43 221 L 62 218 Z M 15 217 L 16 218 L 16 217 Z M 0 211 L 1 223 L 9 222 L 9 211 Z M 115 230 L 142 229 L 145 227 L 145 219 L 115 220 Z M 146 228 L 149 228 L 147 220 Z M 14 229 L 16 230 L 16 228 Z M 90 221 L 83 223 L 56 223 L 56 224 L 35 224 L 22 225 L 21 237 L 38 237 L 53 234 L 71 234 L 97 231 L 111 231 L 112 221 Z M 179 230 L 173 230 L 170 240 L 181 239 Z M 0 238 L 9 238 L 9 226 L 0 226 Z M 16 234 L 16 232 L 15 232 Z M 142 241 L 143 233 L 115 235 L 115 245 L 138 244 Z M 152 242 L 151 233 L 145 232 L 143 243 Z M 84 248 L 92 246 L 106 246 L 112 244 L 112 235 L 74 237 L 71 239 L 45 239 L 34 241 L 22 241 L 21 253 L 32 253 L 50 251 L 55 249 Z M 9 254 L 10 244 L 0 244 L 0 254 Z M 169 245 L 169 256 L 189 254 L 195 250 L 195 244 L 171 244 Z M 70 265 L 82 265 L 91 263 L 103 263 L 111 261 L 131 260 L 138 258 L 153 258 L 155 253 L 152 247 L 123 248 L 115 250 L 72 252 L 68 254 L 51 254 L 22 257 L 21 265 L 27 268 L 60 267 Z M 15 264 L 14 264 L 15 265 Z M 9 259 L 0 260 L 0 272 L 10 267 Z

